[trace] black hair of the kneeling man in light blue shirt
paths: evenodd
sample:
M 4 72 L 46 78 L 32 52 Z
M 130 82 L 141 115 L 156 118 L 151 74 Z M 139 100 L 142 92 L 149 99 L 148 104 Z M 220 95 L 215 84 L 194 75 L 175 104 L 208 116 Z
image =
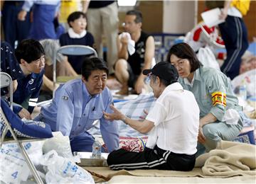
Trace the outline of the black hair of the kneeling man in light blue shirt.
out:
M 82 76 L 85 77 L 87 81 L 89 76 L 92 74 L 92 71 L 97 69 L 105 70 L 107 75 L 109 70 L 107 68 L 107 63 L 99 57 L 85 57 L 84 62 L 82 62 Z

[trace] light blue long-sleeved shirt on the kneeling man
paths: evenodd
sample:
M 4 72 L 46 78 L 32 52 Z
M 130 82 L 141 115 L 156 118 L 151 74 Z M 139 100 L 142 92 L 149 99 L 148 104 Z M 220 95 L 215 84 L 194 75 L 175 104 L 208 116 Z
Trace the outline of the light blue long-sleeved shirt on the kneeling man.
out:
M 102 111 L 112 113 L 110 109 L 112 95 L 106 87 L 102 93 L 90 96 L 81 79 L 68 81 L 55 92 L 53 103 L 41 109 L 44 122 L 53 131 L 60 131 L 70 139 L 89 130 L 95 120 L 100 120 L 100 132 L 108 151 L 119 146 L 117 122 L 105 120 Z

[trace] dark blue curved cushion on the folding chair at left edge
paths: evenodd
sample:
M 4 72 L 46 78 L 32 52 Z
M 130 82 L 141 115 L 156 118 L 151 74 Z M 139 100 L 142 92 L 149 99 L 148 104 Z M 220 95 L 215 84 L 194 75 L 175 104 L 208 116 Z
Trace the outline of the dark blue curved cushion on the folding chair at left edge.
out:
M 9 108 L 7 103 L 1 99 L 1 109 L 4 112 L 9 124 L 18 137 L 31 137 L 31 138 L 49 138 L 53 137 L 50 125 L 44 122 L 36 122 L 33 120 L 26 120 L 23 122 L 13 111 Z M 0 131 L 1 134 L 6 127 L 4 119 L 1 118 Z M 11 137 L 11 132 L 6 134 L 7 137 Z

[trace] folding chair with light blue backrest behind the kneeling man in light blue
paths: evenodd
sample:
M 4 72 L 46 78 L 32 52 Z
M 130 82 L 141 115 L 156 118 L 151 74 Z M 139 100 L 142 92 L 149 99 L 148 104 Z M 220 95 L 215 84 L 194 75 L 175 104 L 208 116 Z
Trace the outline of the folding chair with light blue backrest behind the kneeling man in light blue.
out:
M 95 57 L 97 57 L 97 52 L 89 46 L 85 45 L 65 45 L 63 47 L 60 47 L 56 54 L 55 59 L 53 59 L 53 87 L 55 88 L 55 84 L 57 82 L 56 80 L 56 64 L 57 64 L 57 54 L 65 54 L 65 55 L 90 55 L 94 54 Z M 69 78 L 68 78 L 69 79 Z M 68 79 L 65 79 L 65 81 L 68 81 Z M 54 96 L 54 91 L 53 91 Z

